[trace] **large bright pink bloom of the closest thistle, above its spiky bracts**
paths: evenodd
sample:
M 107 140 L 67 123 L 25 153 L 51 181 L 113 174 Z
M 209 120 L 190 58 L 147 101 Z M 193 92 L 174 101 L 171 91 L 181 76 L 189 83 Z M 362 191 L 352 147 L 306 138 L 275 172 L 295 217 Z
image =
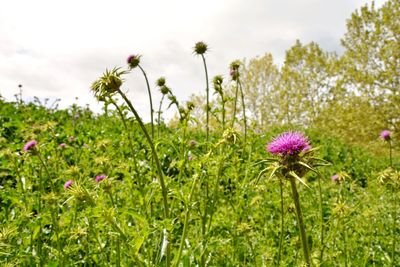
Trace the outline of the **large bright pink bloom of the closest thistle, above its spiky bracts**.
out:
M 297 155 L 311 149 L 308 139 L 300 132 L 285 132 L 267 146 L 267 151 L 275 155 Z

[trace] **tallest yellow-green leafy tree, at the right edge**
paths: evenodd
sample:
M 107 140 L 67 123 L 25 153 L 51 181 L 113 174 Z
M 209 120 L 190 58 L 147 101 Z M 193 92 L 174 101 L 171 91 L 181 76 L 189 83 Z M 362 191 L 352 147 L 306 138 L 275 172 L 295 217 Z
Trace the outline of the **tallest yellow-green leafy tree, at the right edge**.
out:
M 368 97 L 374 112 L 396 130 L 400 126 L 400 2 L 374 3 L 355 11 L 342 39 L 344 83 Z

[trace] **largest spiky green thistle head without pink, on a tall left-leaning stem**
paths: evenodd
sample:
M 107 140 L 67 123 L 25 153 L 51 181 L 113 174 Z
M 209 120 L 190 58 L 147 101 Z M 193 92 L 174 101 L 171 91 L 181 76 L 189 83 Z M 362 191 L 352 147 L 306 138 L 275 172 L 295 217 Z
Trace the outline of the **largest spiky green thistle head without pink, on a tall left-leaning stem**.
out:
M 106 70 L 97 81 L 92 84 L 92 91 L 99 101 L 104 101 L 106 96 L 111 96 L 119 90 L 122 85 L 121 76 L 126 74 L 126 71 L 120 71 L 119 68 L 114 68 L 111 71 Z

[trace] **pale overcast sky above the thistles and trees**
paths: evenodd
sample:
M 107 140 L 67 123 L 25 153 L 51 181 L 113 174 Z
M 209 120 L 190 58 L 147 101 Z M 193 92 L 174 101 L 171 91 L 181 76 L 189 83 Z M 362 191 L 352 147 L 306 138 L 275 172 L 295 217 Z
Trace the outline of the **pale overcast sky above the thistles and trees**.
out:
M 281 63 L 299 39 L 340 53 L 346 19 L 368 0 L 0 0 L 0 95 L 61 98 L 61 107 L 89 104 L 99 111 L 91 83 L 106 68 L 126 66 L 130 54 L 153 87 L 165 76 L 180 100 L 205 91 L 197 41 L 210 51 L 210 77 L 227 75 L 235 59 L 272 53 Z M 377 5 L 384 0 L 376 1 Z M 148 119 L 145 81 L 137 70 L 124 89 Z M 75 98 L 78 97 L 78 100 Z

